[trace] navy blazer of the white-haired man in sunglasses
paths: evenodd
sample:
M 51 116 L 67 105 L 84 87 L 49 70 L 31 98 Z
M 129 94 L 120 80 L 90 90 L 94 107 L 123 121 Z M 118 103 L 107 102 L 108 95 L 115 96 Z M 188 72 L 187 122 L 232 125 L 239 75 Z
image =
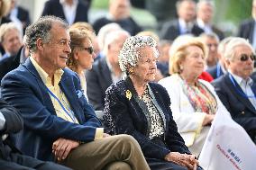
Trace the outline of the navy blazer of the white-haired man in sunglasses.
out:
M 248 98 L 237 92 L 237 90 L 242 92 L 241 87 L 236 82 L 236 87 L 233 85 L 229 73 L 215 79 L 212 84 L 215 86 L 216 94 L 231 113 L 233 120 L 239 123 L 256 142 L 256 110 Z M 251 86 L 251 90 L 256 95 L 255 83 Z

